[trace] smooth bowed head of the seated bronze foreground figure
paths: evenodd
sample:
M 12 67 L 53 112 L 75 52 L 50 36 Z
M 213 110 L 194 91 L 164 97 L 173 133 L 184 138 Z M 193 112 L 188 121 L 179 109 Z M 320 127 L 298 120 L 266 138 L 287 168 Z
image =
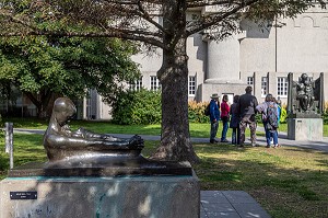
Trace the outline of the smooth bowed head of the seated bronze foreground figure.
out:
M 54 103 L 52 116 L 63 126 L 77 113 L 74 103 L 68 97 L 58 97 Z

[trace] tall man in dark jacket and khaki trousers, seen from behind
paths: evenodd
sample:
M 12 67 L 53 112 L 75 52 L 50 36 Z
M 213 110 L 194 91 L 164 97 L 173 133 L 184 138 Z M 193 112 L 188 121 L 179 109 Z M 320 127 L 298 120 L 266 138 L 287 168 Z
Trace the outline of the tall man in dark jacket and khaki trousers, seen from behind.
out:
M 256 146 L 256 106 L 258 105 L 256 96 L 251 94 L 253 88 L 247 87 L 246 93 L 242 94 L 238 101 L 238 113 L 241 115 L 241 147 L 245 145 L 245 130 L 247 125 L 250 129 L 251 146 Z

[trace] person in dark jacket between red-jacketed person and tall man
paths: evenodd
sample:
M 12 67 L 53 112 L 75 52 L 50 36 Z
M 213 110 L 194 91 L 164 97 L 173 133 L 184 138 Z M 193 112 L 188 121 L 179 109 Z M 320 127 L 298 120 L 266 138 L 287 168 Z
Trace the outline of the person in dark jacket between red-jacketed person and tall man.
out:
M 238 101 L 239 95 L 234 96 L 234 103 L 230 107 L 230 128 L 232 128 L 232 145 L 241 145 L 241 129 L 239 129 L 239 122 L 241 116 L 238 112 Z

